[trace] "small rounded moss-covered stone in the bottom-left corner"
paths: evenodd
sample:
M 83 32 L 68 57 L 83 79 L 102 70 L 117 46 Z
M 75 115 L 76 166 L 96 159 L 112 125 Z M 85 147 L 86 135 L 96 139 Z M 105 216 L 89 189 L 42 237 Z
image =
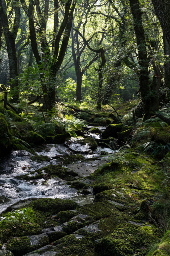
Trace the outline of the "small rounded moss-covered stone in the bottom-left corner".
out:
M 10 250 L 14 255 L 23 255 L 31 251 L 31 243 L 29 237 L 19 237 L 10 239 L 6 245 L 7 250 Z

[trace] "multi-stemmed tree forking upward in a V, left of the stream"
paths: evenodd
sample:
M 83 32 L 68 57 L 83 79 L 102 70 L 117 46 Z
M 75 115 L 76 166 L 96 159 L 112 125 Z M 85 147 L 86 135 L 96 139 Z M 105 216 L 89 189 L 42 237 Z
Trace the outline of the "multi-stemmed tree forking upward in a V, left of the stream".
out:
M 73 12 L 76 0 L 67 0 L 64 6 L 64 17 L 60 28 L 57 30 L 58 1 L 54 1 L 54 36 L 52 51 L 47 40 L 47 21 L 49 16 L 49 1 L 45 0 L 40 5 L 39 0 L 29 1 L 29 7 L 25 0 L 21 0 L 22 7 L 29 18 L 31 46 L 39 69 L 39 76 L 44 94 L 46 109 L 51 110 L 56 103 L 56 73 L 60 69 L 67 49 L 69 35 L 72 27 Z M 35 16 L 37 13 L 37 17 Z M 38 32 L 38 33 L 37 33 Z M 62 38 L 63 37 L 63 38 Z M 38 38 L 40 49 L 38 47 Z M 55 43 L 54 43 L 55 42 Z

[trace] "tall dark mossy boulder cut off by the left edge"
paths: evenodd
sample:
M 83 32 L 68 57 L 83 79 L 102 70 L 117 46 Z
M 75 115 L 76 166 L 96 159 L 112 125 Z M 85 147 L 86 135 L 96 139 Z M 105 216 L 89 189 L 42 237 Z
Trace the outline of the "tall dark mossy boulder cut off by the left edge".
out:
M 3 114 L 0 114 L 0 156 L 4 156 L 12 150 L 14 141 L 11 128 Z

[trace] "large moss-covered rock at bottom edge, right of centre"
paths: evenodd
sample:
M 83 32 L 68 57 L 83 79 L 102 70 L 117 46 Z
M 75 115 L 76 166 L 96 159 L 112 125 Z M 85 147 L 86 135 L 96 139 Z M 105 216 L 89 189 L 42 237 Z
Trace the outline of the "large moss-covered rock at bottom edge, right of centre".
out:
M 131 256 L 135 252 L 143 255 L 156 240 L 151 227 L 126 223 L 118 226 L 111 235 L 100 239 L 95 245 L 95 251 L 102 256 Z

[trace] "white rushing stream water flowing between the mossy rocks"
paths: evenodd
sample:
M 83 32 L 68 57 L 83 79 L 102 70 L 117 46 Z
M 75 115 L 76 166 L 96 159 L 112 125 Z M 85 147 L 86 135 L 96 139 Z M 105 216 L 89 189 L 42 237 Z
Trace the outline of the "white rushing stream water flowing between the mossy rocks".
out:
M 105 127 L 101 127 L 101 131 Z M 89 134 L 91 138 L 100 139 L 98 134 Z M 80 139 L 80 138 L 79 138 Z M 83 138 L 82 138 L 83 139 Z M 36 182 L 24 181 L 17 179 L 18 175 L 29 174 L 29 176 L 35 176 L 37 173 L 30 174 L 39 168 L 46 167 L 48 165 L 62 164 L 61 157 L 71 154 L 81 154 L 85 160 L 78 161 L 69 165 L 63 165 L 78 174 L 76 178 L 86 177 L 108 162 L 108 155 L 101 155 L 102 151 L 108 154 L 113 154 L 109 148 L 98 147 L 97 150 L 92 151 L 89 149 L 88 143 L 86 145 L 80 145 L 76 143 L 78 138 L 71 138 L 71 140 L 65 144 L 47 144 L 44 146 L 44 150 L 35 152 L 39 156 L 48 156 L 49 161 L 38 162 L 32 160 L 31 153 L 27 151 L 18 150 L 13 151 L 9 156 L 5 157 L 1 163 L 0 169 L 0 213 L 5 211 L 6 208 L 20 200 L 29 198 L 60 198 L 60 199 L 72 199 L 75 202 L 83 205 L 86 203 L 92 203 L 94 195 L 82 195 L 77 193 L 77 189 L 70 188 L 66 184 L 66 181 L 59 177 L 54 177 L 45 180 L 36 179 Z M 95 157 L 95 158 L 94 158 Z M 94 159 L 93 159 L 94 158 Z M 44 172 L 44 174 L 46 174 Z M 89 180 L 83 180 L 85 184 L 89 184 Z

